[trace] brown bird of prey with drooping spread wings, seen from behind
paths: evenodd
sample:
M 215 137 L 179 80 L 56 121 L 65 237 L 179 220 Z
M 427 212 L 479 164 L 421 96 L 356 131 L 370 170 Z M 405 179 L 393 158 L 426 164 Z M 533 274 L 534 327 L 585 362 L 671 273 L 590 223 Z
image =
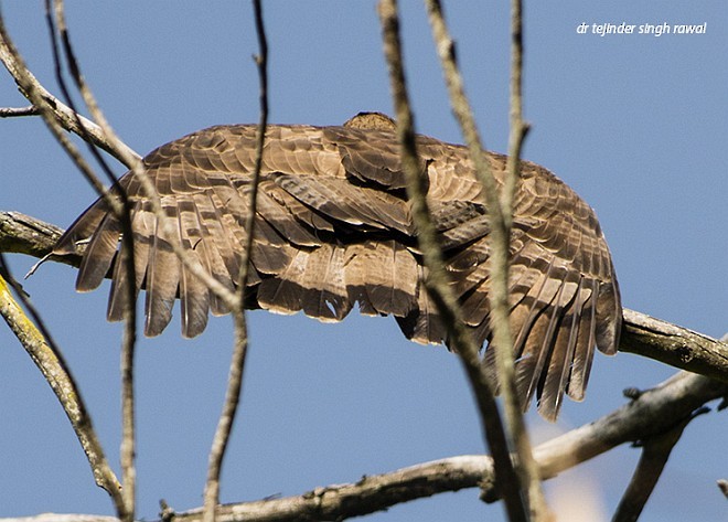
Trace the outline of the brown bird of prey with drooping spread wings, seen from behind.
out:
M 245 244 L 255 125 L 211 127 L 143 158 L 159 193 L 162 226 L 139 179 L 129 172 L 111 189 L 131 205 L 136 289 L 146 290 L 144 333 L 157 335 L 181 301 L 182 334 L 194 337 L 225 306 L 172 252 L 179 242 L 199 267 L 229 289 Z M 486 198 L 463 146 L 418 136 L 427 200 L 462 320 L 480 344 L 490 340 Z M 499 184 L 506 158 L 488 152 Z M 360 114 L 344 126 L 267 128 L 246 306 L 303 311 L 340 321 L 361 313 L 394 316 L 420 343 L 448 342 L 424 285 L 390 119 Z M 170 235 L 170 232 L 172 234 Z M 58 241 L 54 254 L 83 251 L 76 288 L 113 279 L 108 319 L 120 320 L 127 292 L 118 262 L 121 225 L 99 199 Z M 611 256 L 593 211 L 545 168 L 521 161 L 510 243 L 511 328 L 521 402 L 535 395 L 555 419 L 564 394 L 582 400 L 595 347 L 617 350 L 622 310 Z M 81 252 L 81 251 L 79 251 Z M 115 260 L 116 259 L 116 260 Z M 492 364 L 486 350 L 485 364 Z

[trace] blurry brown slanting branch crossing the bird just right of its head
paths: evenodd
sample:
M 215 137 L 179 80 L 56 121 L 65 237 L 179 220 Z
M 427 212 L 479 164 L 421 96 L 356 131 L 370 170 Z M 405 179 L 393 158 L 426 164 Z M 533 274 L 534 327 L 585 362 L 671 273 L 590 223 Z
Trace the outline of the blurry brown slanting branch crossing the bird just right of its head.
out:
M 402 143 L 402 161 L 407 178 L 407 193 L 411 202 L 413 220 L 417 226 L 417 241 L 428 270 L 425 285 L 440 313 L 442 323 L 448 329 L 451 348 L 460 355 L 460 361 L 475 395 L 484 437 L 495 457 L 499 482 L 504 492 L 508 516 L 512 521 L 525 521 L 527 516 L 520 493 L 521 488 L 511 461 L 495 397 L 483 372 L 478 347 L 461 319 L 458 300 L 448 283 L 438 235 L 427 205 L 425 189 L 427 172 L 424 171 L 426 166 L 421 166 L 417 156 L 413 115 L 409 108 L 402 62 L 399 18 L 396 1 L 382 0 L 378 10 L 382 20 L 385 56 L 389 66 L 392 92 L 397 113 L 397 136 Z

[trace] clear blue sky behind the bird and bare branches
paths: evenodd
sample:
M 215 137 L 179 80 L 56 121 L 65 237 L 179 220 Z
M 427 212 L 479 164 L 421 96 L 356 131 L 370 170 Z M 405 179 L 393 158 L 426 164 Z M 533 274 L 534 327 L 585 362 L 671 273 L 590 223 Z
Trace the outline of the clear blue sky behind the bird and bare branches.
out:
M 507 139 L 506 3 L 446 6 L 485 145 L 497 151 Z M 31 70 L 57 94 L 42 2 L 2 2 L 2 11 Z M 425 9 L 405 1 L 402 11 L 417 129 L 460 142 Z M 206 126 L 258 120 L 247 2 L 68 2 L 67 17 L 86 78 L 140 153 Z M 622 21 L 707 22 L 707 33 L 576 31 L 581 22 Z M 392 113 L 373 1 L 267 1 L 265 22 L 271 122 L 335 125 L 358 110 Z M 527 2 L 525 20 L 525 116 L 533 129 L 523 156 L 596 209 L 625 307 L 713 337 L 728 331 L 727 22 L 722 0 L 542 0 Z M 22 105 L 0 74 L 0 106 Z M 0 121 L 0 210 L 67 226 L 94 198 L 39 118 Z M 8 257 L 18 277 L 35 262 Z M 24 286 L 118 462 L 121 328 L 105 320 L 108 286 L 79 295 L 74 279 L 75 269 L 49 263 Z M 249 318 L 223 501 L 300 494 L 483 451 L 464 376 L 443 348 L 409 343 L 390 318 L 352 313 L 333 326 L 261 311 Z M 139 343 L 139 516 L 156 518 L 159 499 L 175 510 L 202 503 L 231 332 L 229 318 L 218 318 L 200 338 L 183 340 L 175 317 L 163 335 Z M 4 326 L 0 361 L 0 516 L 111 513 L 54 395 Z M 598 354 L 586 402 L 568 402 L 556 425 L 529 414 L 534 437 L 596 419 L 624 403 L 624 387 L 650 387 L 673 373 L 635 355 Z M 728 478 L 727 426 L 725 413 L 689 425 L 641 520 L 726 520 L 715 483 Z M 598 514 L 589 520 L 609 520 L 638 458 L 639 450 L 623 447 L 564 473 L 547 486 L 553 504 L 592 504 Z M 484 505 L 467 490 L 370 520 L 501 518 L 500 504 Z

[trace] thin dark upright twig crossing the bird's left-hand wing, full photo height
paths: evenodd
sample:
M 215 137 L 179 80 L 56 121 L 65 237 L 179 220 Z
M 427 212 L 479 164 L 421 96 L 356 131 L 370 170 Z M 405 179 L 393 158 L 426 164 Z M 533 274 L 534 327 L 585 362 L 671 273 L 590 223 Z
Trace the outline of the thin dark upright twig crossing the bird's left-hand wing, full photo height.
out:
M 260 82 L 260 119 L 256 135 L 256 156 L 253 180 L 250 182 L 250 194 L 248 202 L 248 214 L 245 217 L 245 230 L 247 232 L 245 247 L 240 255 L 240 273 L 238 275 L 236 297 L 238 305 L 233 309 L 235 322 L 235 345 L 229 365 L 227 379 L 227 391 L 225 403 L 217 423 L 217 429 L 210 449 L 207 481 L 204 491 L 203 520 L 214 522 L 215 509 L 220 503 L 220 475 L 223 467 L 225 449 L 233 430 L 233 423 L 240 402 L 240 390 L 243 386 L 243 374 L 248 349 L 247 321 L 245 315 L 245 296 L 247 289 L 248 274 L 250 270 L 250 252 L 253 249 L 253 237 L 255 234 L 255 217 L 257 212 L 258 183 L 260 169 L 263 167 L 263 149 L 266 139 L 266 127 L 268 125 L 268 42 L 265 25 L 263 23 L 263 6 L 259 0 L 253 1 L 256 33 L 258 35 L 259 54 L 256 56 L 258 76 Z

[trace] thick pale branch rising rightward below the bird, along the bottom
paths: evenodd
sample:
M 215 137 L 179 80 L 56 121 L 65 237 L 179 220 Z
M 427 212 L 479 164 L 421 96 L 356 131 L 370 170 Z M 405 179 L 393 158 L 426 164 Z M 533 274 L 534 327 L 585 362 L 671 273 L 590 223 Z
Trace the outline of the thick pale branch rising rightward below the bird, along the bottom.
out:
M 681 372 L 600 419 L 537 446 L 534 457 L 542 479 L 609 451 L 624 443 L 668 433 L 706 403 L 728 394 L 728 383 Z M 447 491 L 480 487 L 497 500 L 489 456 L 459 456 L 367 476 L 357 482 L 317 488 L 299 497 L 222 505 L 218 522 L 343 520 Z M 175 522 L 199 522 L 202 510 L 173 513 Z M 67 515 L 0 519 L 0 522 L 66 522 Z M 83 522 L 113 522 L 78 515 Z

